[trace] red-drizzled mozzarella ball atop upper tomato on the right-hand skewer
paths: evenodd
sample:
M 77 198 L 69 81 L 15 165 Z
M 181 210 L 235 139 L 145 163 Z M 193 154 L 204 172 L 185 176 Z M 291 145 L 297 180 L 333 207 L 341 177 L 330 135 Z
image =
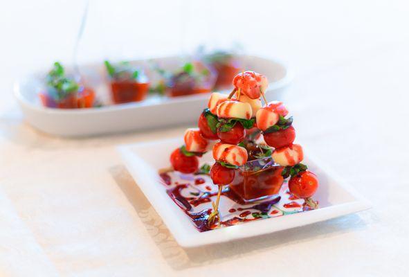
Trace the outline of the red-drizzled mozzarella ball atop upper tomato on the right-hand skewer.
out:
M 255 115 L 257 127 L 262 131 L 278 123 L 280 116 L 287 116 L 289 112 L 282 102 L 272 101 L 260 108 Z

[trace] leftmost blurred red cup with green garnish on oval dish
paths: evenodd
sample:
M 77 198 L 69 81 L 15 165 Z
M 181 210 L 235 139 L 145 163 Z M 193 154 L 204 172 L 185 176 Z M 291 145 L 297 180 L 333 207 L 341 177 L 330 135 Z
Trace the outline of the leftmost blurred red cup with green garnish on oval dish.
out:
M 66 75 L 64 67 L 55 62 L 46 75 L 46 89 L 39 92 L 45 107 L 60 109 L 90 108 L 95 102 L 95 92 Z

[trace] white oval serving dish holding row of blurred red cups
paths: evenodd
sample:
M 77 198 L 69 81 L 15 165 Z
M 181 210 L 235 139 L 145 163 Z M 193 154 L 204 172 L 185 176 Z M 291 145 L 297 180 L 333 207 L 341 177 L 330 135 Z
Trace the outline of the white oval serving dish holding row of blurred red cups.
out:
M 280 100 L 292 80 L 287 66 L 263 57 L 251 55 L 239 57 L 245 69 L 260 72 L 269 78 L 266 98 Z M 163 64 L 165 68 L 172 68 L 181 60 L 178 57 L 165 57 L 132 63 L 148 64 L 152 61 Z M 104 75 L 102 62 L 85 64 L 80 66 L 80 69 L 82 73 L 93 73 L 90 79 L 94 82 L 93 88 L 97 95 L 107 95 L 108 87 L 101 77 Z M 14 93 L 26 121 L 42 132 L 57 136 L 113 134 L 194 122 L 206 107 L 209 96 L 208 93 L 203 93 L 176 98 L 152 97 L 142 102 L 90 109 L 52 109 L 43 107 L 38 97 L 44 75 L 46 72 L 42 71 L 17 80 Z

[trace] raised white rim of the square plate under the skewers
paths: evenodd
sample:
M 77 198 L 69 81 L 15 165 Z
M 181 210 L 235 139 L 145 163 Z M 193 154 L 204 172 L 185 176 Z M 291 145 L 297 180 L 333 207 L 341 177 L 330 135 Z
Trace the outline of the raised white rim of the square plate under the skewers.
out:
M 179 206 L 175 205 L 172 199 L 168 197 L 166 193 L 153 193 L 153 191 L 161 191 L 160 186 L 154 187 L 154 190 L 147 189 L 145 184 L 140 185 L 141 181 L 144 182 L 140 176 L 136 175 L 132 165 L 129 161 L 132 159 L 140 159 L 140 162 L 147 164 L 142 158 L 138 157 L 137 154 L 132 153 L 130 150 L 132 148 L 143 148 L 146 146 L 158 145 L 158 144 L 168 144 L 174 143 L 175 141 L 181 141 L 181 137 L 177 136 L 171 139 L 158 139 L 154 141 L 145 141 L 140 143 L 129 143 L 117 145 L 116 149 L 120 154 L 120 157 L 125 164 L 125 167 L 129 171 L 136 185 L 142 190 L 145 197 L 154 208 L 154 210 L 161 216 L 161 219 L 169 229 L 170 233 L 174 236 L 176 242 L 183 248 L 201 247 L 209 244 L 217 244 L 222 242 L 229 242 L 233 240 L 240 240 L 244 238 L 251 238 L 258 235 L 265 235 L 269 233 L 275 233 L 285 229 L 293 229 L 300 226 L 305 226 L 308 224 L 313 224 L 316 222 L 322 222 L 325 220 L 330 220 L 332 218 L 340 217 L 343 215 L 348 215 L 351 213 L 357 213 L 359 211 L 365 211 L 372 208 L 372 204 L 365 199 L 360 193 L 358 193 L 352 186 L 347 184 L 339 175 L 333 170 L 328 168 L 325 163 L 322 163 L 316 157 L 311 156 L 310 152 L 303 147 L 305 151 L 305 156 L 308 157 L 316 166 L 318 166 L 327 175 L 331 176 L 334 181 L 336 181 L 337 186 L 342 187 L 350 195 L 354 197 L 351 202 L 346 202 L 343 204 L 335 204 L 333 206 L 328 206 L 324 208 L 319 208 L 318 210 L 308 211 L 307 213 L 294 213 L 291 215 L 286 215 L 283 217 L 272 217 L 265 220 L 257 220 L 254 222 L 247 222 L 246 224 L 237 224 L 234 226 L 229 226 L 223 229 L 214 229 L 207 232 L 199 232 L 192 227 L 191 230 L 186 230 L 181 228 L 185 224 L 192 224 L 187 216 L 181 211 Z M 151 166 L 152 168 L 152 166 Z M 152 180 L 152 185 L 157 184 L 157 180 Z M 164 190 L 163 190 L 164 191 Z M 170 204 L 160 205 L 159 202 L 165 202 Z M 174 218 L 174 213 L 178 215 Z M 173 216 L 172 216 L 173 214 Z M 179 216 L 180 215 L 180 216 Z M 275 224 L 271 224 L 271 220 L 274 220 Z M 179 223 L 179 224 L 178 224 Z M 188 235 L 187 235 L 188 233 Z

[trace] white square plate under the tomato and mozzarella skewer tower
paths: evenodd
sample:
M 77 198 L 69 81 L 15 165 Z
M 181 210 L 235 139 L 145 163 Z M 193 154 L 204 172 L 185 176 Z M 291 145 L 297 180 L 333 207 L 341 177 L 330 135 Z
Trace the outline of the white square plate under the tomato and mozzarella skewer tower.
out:
M 305 163 L 311 171 L 316 173 L 320 181 L 320 187 L 313 197 L 320 204 L 318 209 L 199 232 L 190 218 L 167 195 L 166 188 L 161 184 L 158 175 L 160 168 L 170 166 L 170 153 L 182 143 L 182 139 L 171 139 L 118 147 L 136 184 L 151 202 L 156 212 L 161 215 L 163 222 L 182 247 L 199 247 L 205 244 L 228 242 L 273 233 L 356 213 L 371 207 L 367 200 L 354 192 L 343 181 L 340 181 L 333 172 L 322 166 L 321 163 L 314 162 L 311 160 L 311 156 L 306 154 Z M 212 163 L 210 155 L 203 156 L 201 161 Z

